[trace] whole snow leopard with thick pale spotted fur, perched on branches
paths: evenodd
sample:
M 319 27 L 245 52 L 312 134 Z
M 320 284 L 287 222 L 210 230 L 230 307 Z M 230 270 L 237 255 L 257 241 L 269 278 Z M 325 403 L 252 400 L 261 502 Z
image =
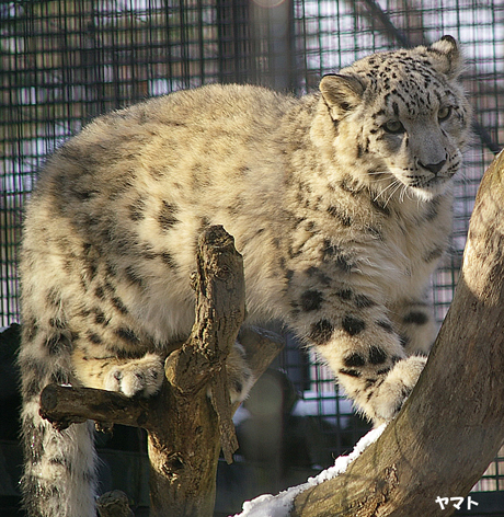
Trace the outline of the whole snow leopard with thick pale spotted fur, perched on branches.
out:
M 41 390 L 153 395 L 191 332 L 210 225 L 243 256 L 245 324 L 280 320 L 375 424 L 398 413 L 433 341 L 426 288 L 470 138 L 462 68 L 444 36 L 364 57 L 301 96 L 177 91 L 99 116 L 47 159 L 20 261 L 28 515 L 94 515 L 92 427 L 55 430 Z M 227 368 L 244 399 L 239 344 Z

